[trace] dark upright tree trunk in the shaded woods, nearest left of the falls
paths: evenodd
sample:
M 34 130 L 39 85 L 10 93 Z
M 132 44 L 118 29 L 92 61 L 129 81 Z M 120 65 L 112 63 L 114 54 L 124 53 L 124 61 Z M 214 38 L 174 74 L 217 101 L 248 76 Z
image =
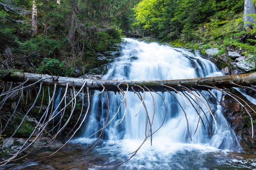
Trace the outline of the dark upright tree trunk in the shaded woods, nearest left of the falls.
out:
M 72 0 L 72 11 L 71 11 L 71 19 L 70 19 L 70 25 L 69 25 L 69 30 L 67 34 L 67 39 L 70 41 L 71 44 L 74 43 L 75 39 L 75 21 L 76 21 L 76 0 Z

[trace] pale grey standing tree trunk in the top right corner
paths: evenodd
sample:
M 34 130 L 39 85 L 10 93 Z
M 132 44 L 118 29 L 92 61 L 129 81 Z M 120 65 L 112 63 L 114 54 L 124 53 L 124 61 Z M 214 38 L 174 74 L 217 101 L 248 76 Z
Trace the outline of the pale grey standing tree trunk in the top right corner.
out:
M 245 8 L 244 8 L 244 27 L 248 31 L 248 29 L 252 29 L 255 26 L 252 23 L 256 24 L 255 18 L 252 16 L 248 16 L 249 14 L 256 14 L 255 4 L 252 0 L 245 0 Z

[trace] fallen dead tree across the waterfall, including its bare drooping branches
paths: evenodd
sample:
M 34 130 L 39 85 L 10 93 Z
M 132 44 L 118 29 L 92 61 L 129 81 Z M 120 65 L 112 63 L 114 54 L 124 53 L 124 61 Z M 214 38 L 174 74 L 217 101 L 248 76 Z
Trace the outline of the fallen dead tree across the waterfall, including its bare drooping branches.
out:
M 88 151 L 92 150 L 92 148 L 94 148 L 97 145 L 104 129 L 106 128 L 106 126 L 110 124 L 110 122 L 114 120 L 114 118 L 120 112 L 121 105 L 124 103 L 125 110 L 123 113 L 119 113 L 123 115 L 122 119 L 115 126 L 119 126 L 121 122 L 123 122 L 126 116 L 126 110 L 127 110 L 126 94 L 128 93 L 128 91 L 134 92 L 135 94 L 137 94 L 138 98 L 141 100 L 141 106 L 139 107 L 139 110 L 137 111 L 136 115 L 139 113 L 139 111 L 143 107 L 146 111 L 145 138 L 141 143 L 141 145 L 137 148 L 137 150 L 131 153 L 132 155 L 130 156 L 129 159 L 131 159 L 138 152 L 138 150 L 141 148 L 141 146 L 144 144 L 144 142 L 146 142 L 146 140 L 149 137 L 150 137 L 150 142 L 152 142 L 153 134 L 156 131 L 158 131 L 159 128 L 161 128 L 161 126 L 164 124 L 164 120 L 167 114 L 167 108 L 166 108 L 166 103 L 164 102 L 163 96 L 158 92 L 168 92 L 168 94 L 170 94 L 171 96 L 173 96 L 173 98 L 175 98 L 175 100 L 177 100 L 180 108 L 184 112 L 184 116 L 186 117 L 187 130 L 188 130 L 189 137 L 191 138 L 191 141 L 193 140 L 193 137 L 191 135 L 191 132 L 189 131 L 189 120 L 187 119 L 187 114 L 189 113 L 186 113 L 184 106 L 180 104 L 180 101 L 178 100 L 178 98 L 175 97 L 174 92 L 178 96 L 182 96 L 187 106 L 189 106 L 190 104 L 193 106 L 193 108 L 195 109 L 195 112 L 198 114 L 198 124 L 202 122 L 204 129 L 205 129 L 205 124 L 206 123 L 209 124 L 209 130 L 211 132 L 211 135 L 212 134 L 214 135 L 216 133 L 218 127 L 217 127 L 216 120 L 214 118 L 214 113 L 212 113 L 211 111 L 211 104 L 209 104 L 207 100 L 209 100 L 209 98 L 211 97 L 213 100 L 216 100 L 217 102 L 220 103 L 220 101 L 218 101 L 218 99 L 214 97 L 214 95 L 211 93 L 211 89 L 218 90 L 228 96 L 231 96 L 247 112 L 252 125 L 252 138 L 254 135 L 253 120 L 252 120 L 251 113 L 253 112 L 254 114 L 256 114 L 256 111 L 252 109 L 252 107 L 247 102 L 245 102 L 235 94 L 232 94 L 227 89 L 231 87 L 246 87 L 246 88 L 255 90 L 256 73 L 232 75 L 232 76 L 216 76 L 216 77 L 205 77 L 205 78 L 182 79 L 182 80 L 163 80 L 163 81 L 162 80 L 161 81 L 160 80 L 159 81 L 131 81 L 131 80 L 123 81 L 122 80 L 121 81 L 121 80 L 90 80 L 90 79 L 82 79 L 82 78 L 68 78 L 68 77 L 49 76 L 49 75 L 42 75 L 42 74 L 10 72 L 4 75 L 2 74 L 2 76 L 0 76 L 0 80 L 1 80 L 0 83 L 2 83 L 0 85 L 0 110 L 5 107 L 5 103 L 8 102 L 9 99 L 13 100 L 14 98 L 17 98 L 17 105 L 13 110 L 13 112 L 9 114 L 9 116 L 7 116 L 8 117 L 7 120 L 5 119 L 4 121 L 2 121 L 2 115 L 0 114 L 0 122 L 5 122 L 3 126 L 2 124 L 0 124 L 0 135 L 3 135 L 5 133 L 4 131 L 7 125 L 13 118 L 13 115 L 16 114 L 16 110 L 18 109 L 19 105 L 21 105 L 20 101 L 24 101 L 24 100 L 27 101 L 27 98 L 29 98 L 28 89 L 34 88 L 34 90 L 36 90 L 37 92 L 36 98 L 34 99 L 33 104 L 31 104 L 30 107 L 27 108 L 27 111 L 23 116 L 22 121 L 20 122 L 16 130 L 13 132 L 13 135 L 18 131 L 19 127 L 24 122 L 24 120 L 27 119 L 29 111 L 35 106 L 35 103 L 37 102 L 40 95 L 42 96 L 42 100 L 38 101 L 40 103 L 40 109 L 38 113 L 40 113 L 43 105 L 47 106 L 46 109 L 44 109 L 43 111 L 43 116 L 40 118 L 38 122 L 36 122 L 36 126 L 34 127 L 34 130 L 29 136 L 29 138 L 27 139 L 27 141 L 20 147 L 20 149 L 15 154 L 11 155 L 7 159 L 0 161 L 0 166 L 6 165 L 11 161 L 16 161 L 18 159 L 22 159 L 26 157 L 29 153 L 32 152 L 32 150 L 34 150 L 34 148 L 37 147 L 38 141 L 40 140 L 42 135 L 44 135 L 45 133 L 52 131 L 52 133 L 54 134 L 51 137 L 49 137 L 49 139 L 51 139 L 52 142 L 54 142 L 56 137 L 59 134 L 61 134 L 61 132 L 65 129 L 67 124 L 70 122 L 70 119 L 74 116 L 73 113 L 74 113 L 74 109 L 76 108 L 76 103 L 78 101 L 77 98 L 78 98 L 78 95 L 81 94 L 82 98 L 86 96 L 87 98 L 86 100 L 88 101 L 88 107 L 85 110 L 83 109 L 83 106 L 84 106 L 84 98 L 83 98 L 81 103 L 81 106 L 82 106 L 81 111 L 79 112 L 80 113 L 79 118 L 76 117 L 76 120 L 77 120 L 76 124 L 74 125 L 70 133 L 68 133 L 67 142 L 63 146 L 61 146 L 58 150 L 63 148 L 72 139 L 72 137 L 74 137 L 74 135 L 79 131 L 79 129 L 82 129 L 81 128 L 82 126 L 83 126 L 83 130 L 85 129 L 85 126 L 90 116 L 90 105 L 91 105 L 90 90 L 101 91 L 94 95 L 100 95 L 103 93 L 106 94 L 106 98 L 108 101 L 108 116 L 109 116 L 109 105 L 110 105 L 109 99 L 108 99 L 108 92 L 109 91 L 119 92 L 124 97 L 122 97 L 121 103 L 117 109 L 117 112 L 114 114 L 114 116 L 112 116 L 112 118 L 108 118 L 107 116 L 104 126 L 102 128 L 100 127 L 101 129 L 99 129 L 98 131 L 96 131 L 94 134 L 91 135 L 93 136 L 95 134 L 99 134 L 98 135 L 99 137 L 96 139 L 95 142 L 92 143 L 92 145 L 88 147 Z M 52 92 L 50 92 L 49 90 L 50 86 L 52 86 Z M 47 87 L 48 95 L 45 94 L 45 90 L 44 90 L 45 87 Z M 59 102 L 56 109 L 54 109 L 53 106 L 55 103 L 54 100 L 56 98 L 57 87 L 64 87 L 63 90 L 65 93 L 63 94 L 63 97 L 61 98 L 61 101 Z M 68 93 L 68 89 L 70 89 L 70 93 Z M 201 91 L 203 90 L 205 93 L 209 93 L 210 97 L 207 97 L 204 93 L 202 93 Z M 152 105 L 154 106 L 154 112 L 153 112 L 152 118 L 150 118 L 149 116 L 150 114 L 148 114 L 148 109 L 144 103 L 144 98 L 146 95 L 145 92 L 149 92 L 147 93 L 147 95 L 150 95 L 152 97 Z M 155 115 L 155 100 L 154 100 L 153 93 L 159 95 L 162 98 L 164 106 L 166 108 L 163 123 L 154 132 L 152 129 L 154 115 Z M 44 100 L 45 96 L 48 96 L 49 100 Z M 202 110 L 202 105 L 206 106 L 207 111 Z M 60 110 L 58 110 L 59 107 L 61 107 Z M 67 107 L 69 107 L 70 109 L 67 109 Z M 67 113 L 67 110 L 69 110 L 70 113 Z M 203 115 L 200 114 L 201 111 L 204 113 Z M 211 128 L 211 123 L 209 122 L 210 119 L 207 118 L 207 114 L 205 112 L 211 113 L 209 116 L 211 116 L 211 120 L 213 120 L 214 125 L 212 126 L 215 126 L 215 131 L 213 133 L 212 133 L 213 128 Z M 68 119 L 66 121 L 63 120 L 64 113 L 66 116 L 68 116 Z M 203 122 L 202 116 L 206 117 L 207 122 Z M 57 124 L 55 124 L 54 127 L 49 126 L 51 125 L 51 122 L 56 120 L 56 117 L 58 118 Z M 63 124 L 62 122 L 65 122 L 65 124 Z M 194 133 L 196 133 L 198 129 L 198 124 Z M 47 131 L 49 129 L 50 131 Z M 29 142 L 29 140 L 31 141 L 32 136 L 35 136 L 34 140 L 32 142 Z M 0 144 L 0 147 L 3 146 L 9 139 L 10 138 L 2 142 Z M 40 147 L 45 147 L 45 146 L 40 146 Z M 58 152 L 58 150 L 56 150 L 56 152 Z M 18 157 L 24 152 L 26 152 L 27 154 L 23 155 L 22 157 Z M 53 154 L 45 156 L 43 158 L 51 157 Z M 37 158 L 37 159 L 42 159 L 42 158 Z M 123 163 L 125 163 L 126 161 L 124 161 Z M 122 163 L 120 163 L 119 165 L 121 164 Z

